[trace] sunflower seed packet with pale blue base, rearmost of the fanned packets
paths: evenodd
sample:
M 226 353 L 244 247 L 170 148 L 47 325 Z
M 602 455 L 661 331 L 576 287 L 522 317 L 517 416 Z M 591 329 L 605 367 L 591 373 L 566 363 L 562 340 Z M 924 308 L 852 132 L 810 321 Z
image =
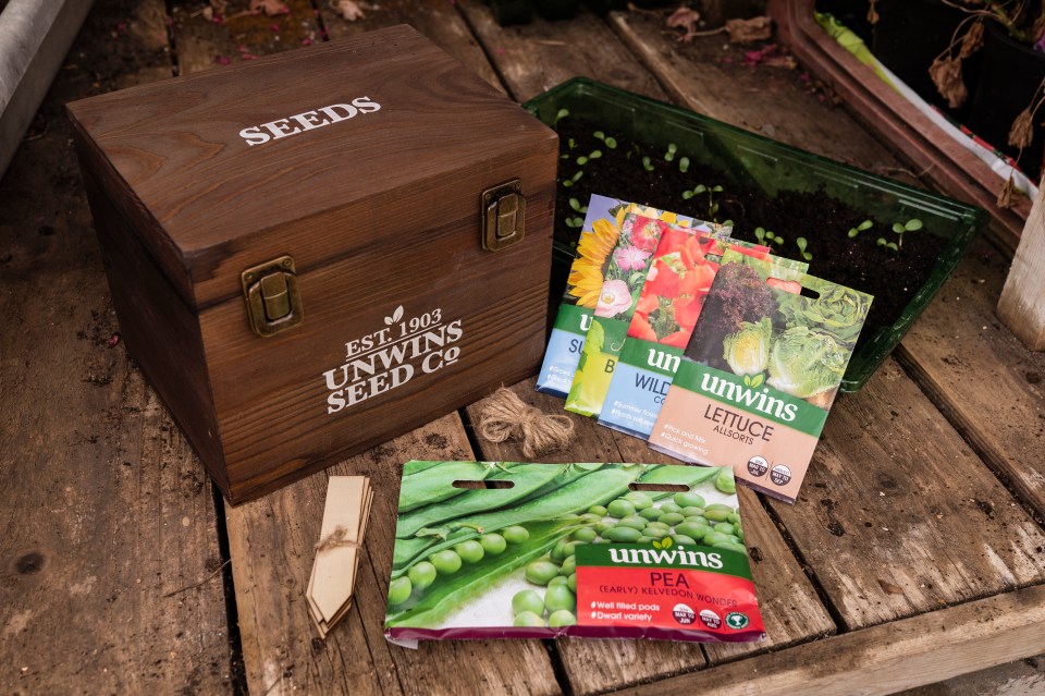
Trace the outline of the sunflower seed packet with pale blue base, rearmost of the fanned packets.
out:
M 677 216 L 637 204 L 591 196 L 585 212 L 585 222 L 577 243 L 577 256 L 569 269 L 566 292 L 555 315 L 552 334 L 544 352 L 544 363 L 537 377 L 537 390 L 565 399 L 574 382 L 574 373 L 580 359 L 585 335 L 599 302 L 606 264 L 617 244 L 625 216 L 632 210 L 666 222 L 689 227 L 692 218 Z

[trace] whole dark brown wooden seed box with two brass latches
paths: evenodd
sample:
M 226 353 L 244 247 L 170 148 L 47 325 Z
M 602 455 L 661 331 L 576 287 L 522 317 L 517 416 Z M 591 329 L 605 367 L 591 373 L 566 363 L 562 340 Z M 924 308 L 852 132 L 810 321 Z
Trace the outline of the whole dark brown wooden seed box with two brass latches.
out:
M 231 502 L 540 363 L 557 136 L 410 27 L 67 109 L 127 350 Z

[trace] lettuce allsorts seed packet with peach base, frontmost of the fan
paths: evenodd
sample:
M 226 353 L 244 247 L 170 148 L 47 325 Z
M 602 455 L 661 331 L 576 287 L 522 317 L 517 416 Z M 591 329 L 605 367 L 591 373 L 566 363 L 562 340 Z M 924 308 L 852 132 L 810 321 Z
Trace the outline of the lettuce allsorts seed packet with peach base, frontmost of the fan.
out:
M 794 294 L 759 264 L 718 269 L 650 445 L 795 502 L 872 297 L 806 274 Z

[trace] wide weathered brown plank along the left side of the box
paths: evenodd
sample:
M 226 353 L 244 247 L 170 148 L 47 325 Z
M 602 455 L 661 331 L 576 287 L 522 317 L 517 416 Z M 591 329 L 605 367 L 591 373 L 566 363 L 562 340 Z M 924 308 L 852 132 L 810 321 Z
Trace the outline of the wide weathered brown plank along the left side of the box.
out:
M 119 327 L 62 106 L 170 76 L 163 12 L 96 3 L 0 181 L 7 694 L 231 688 L 212 488 L 110 345 Z

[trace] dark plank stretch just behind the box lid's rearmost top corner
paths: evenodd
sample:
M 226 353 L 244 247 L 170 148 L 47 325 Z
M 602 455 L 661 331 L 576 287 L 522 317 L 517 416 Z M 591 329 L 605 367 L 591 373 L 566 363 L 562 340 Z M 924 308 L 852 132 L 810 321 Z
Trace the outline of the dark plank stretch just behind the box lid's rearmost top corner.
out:
M 320 15 L 331 39 L 396 24 L 409 24 L 474 73 L 504 91 L 497 73 L 482 52 L 482 47 L 452 2 L 385 0 L 367 11 L 365 19 L 355 22 L 346 21 L 327 7 L 320 7 Z

